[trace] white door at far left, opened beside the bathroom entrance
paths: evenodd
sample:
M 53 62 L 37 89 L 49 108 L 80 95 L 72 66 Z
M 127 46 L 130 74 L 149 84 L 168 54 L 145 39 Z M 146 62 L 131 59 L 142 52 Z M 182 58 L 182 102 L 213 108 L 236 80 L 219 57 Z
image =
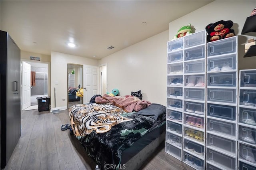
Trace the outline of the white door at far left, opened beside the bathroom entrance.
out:
M 31 81 L 31 65 L 22 62 L 22 110 L 30 107 L 31 105 L 31 91 L 30 91 L 30 81 Z

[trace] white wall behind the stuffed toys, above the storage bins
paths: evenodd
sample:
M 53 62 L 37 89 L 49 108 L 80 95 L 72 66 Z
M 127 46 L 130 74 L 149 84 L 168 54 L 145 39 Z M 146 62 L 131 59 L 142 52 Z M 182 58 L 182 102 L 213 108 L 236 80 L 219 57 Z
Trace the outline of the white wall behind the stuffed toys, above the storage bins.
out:
M 238 36 L 238 69 L 256 69 L 256 57 L 244 58 L 244 43 L 252 36 L 241 35 L 244 22 L 250 16 L 252 10 L 256 7 L 256 0 L 236 1 L 236 0 L 218 0 L 214 1 L 198 10 L 187 14 L 177 20 L 169 23 L 169 40 L 171 40 L 181 26 L 191 24 L 196 28 L 196 32 L 204 30 L 205 27 L 219 20 L 232 20 L 234 25 L 232 29 Z

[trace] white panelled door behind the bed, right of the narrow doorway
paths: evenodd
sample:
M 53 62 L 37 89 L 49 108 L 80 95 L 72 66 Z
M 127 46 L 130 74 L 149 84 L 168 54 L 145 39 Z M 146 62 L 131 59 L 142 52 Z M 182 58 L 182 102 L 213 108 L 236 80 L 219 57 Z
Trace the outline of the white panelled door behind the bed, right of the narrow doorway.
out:
M 99 94 L 99 67 L 84 65 L 84 103 L 89 103 L 94 95 Z

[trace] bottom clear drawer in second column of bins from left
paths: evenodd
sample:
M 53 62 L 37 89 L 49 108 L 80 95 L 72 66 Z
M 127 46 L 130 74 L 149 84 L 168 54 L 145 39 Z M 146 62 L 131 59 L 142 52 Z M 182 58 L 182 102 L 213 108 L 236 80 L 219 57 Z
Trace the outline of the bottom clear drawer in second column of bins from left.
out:
M 196 170 L 204 169 L 204 160 L 192 156 L 191 154 L 188 154 L 186 152 L 184 152 L 183 157 L 183 161 L 195 168 Z

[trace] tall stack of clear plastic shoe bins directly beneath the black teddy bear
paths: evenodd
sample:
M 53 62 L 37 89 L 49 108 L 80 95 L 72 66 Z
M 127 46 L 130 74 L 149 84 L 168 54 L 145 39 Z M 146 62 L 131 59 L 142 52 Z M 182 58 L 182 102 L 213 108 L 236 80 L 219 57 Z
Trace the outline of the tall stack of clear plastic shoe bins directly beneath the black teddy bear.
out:
M 237 168 L 237 36 L 207 43 L 206 169 Z

